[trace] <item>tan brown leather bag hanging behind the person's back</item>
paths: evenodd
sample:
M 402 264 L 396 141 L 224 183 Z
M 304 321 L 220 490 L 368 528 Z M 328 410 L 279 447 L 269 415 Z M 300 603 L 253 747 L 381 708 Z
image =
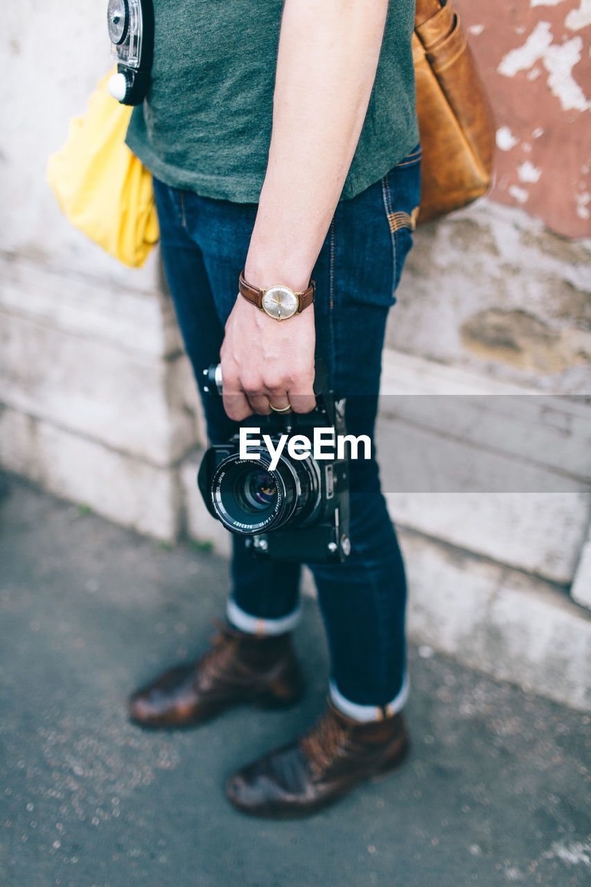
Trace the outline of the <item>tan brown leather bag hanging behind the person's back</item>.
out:
M 452 4 L 416 0 L 413 59 L 422 145 L 419 220 L 427 222 L 489 190 L 494 121 Z

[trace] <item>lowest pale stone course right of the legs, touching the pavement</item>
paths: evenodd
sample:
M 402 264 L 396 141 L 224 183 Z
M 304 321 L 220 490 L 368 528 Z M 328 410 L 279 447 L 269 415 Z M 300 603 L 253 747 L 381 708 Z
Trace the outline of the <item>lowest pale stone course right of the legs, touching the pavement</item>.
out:
M 591 617 L 567 594 L 420 534 L 399 536 L 414 642 L 556 702 L 591 708 Z

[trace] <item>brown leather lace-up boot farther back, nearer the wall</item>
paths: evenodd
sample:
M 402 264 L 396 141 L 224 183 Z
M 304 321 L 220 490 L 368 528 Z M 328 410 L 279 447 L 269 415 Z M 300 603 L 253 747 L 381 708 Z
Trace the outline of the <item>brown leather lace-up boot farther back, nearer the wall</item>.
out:
M 238 703 L 287 707 L 303 679 L 291 636 L 259 638 L 217 624 L 213 648 L 196 663 L 165 671 L 130 698 L 130 718 L 149 727 L 201 724 Z

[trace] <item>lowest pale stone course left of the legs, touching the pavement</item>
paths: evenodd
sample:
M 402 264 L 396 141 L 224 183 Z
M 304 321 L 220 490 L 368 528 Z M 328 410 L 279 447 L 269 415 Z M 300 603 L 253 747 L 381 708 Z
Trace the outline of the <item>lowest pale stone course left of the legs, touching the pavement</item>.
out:
M 149 536 L 177 538 L 176 469 L 155 467 L 5 407 L 0 412 L 0 464 L 111 521 Z

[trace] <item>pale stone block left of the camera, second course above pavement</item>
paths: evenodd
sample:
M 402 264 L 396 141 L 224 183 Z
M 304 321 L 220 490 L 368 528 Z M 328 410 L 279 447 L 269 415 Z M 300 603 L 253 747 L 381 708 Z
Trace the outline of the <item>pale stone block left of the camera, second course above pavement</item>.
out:
M 2 317 L 1 339 L 0 398 L 13 409 L 159 466 L 196 443 L 183 355 L 147 357 L 12 314 Z

